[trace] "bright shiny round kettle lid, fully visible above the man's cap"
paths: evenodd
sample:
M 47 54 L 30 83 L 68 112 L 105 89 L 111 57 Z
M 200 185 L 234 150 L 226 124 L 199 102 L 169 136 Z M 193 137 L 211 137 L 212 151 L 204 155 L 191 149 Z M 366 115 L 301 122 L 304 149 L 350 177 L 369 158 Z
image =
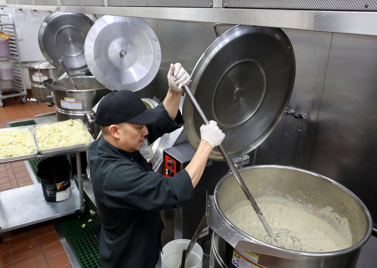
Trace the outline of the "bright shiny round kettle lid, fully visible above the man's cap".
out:
M 107 88 L 137 91 L 155 78 L 161 48 L 141 18 L 105 15 L 87 34 L 85 58 L 90 72 Z

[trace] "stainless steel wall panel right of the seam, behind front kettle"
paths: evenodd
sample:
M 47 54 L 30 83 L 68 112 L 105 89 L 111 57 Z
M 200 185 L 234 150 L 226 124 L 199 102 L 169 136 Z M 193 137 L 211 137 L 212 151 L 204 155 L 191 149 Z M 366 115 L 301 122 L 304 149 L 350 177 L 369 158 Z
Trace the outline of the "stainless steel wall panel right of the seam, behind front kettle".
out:
M 377 226 L 377 38 L 334 34 L 309 169 L 348 187 Z

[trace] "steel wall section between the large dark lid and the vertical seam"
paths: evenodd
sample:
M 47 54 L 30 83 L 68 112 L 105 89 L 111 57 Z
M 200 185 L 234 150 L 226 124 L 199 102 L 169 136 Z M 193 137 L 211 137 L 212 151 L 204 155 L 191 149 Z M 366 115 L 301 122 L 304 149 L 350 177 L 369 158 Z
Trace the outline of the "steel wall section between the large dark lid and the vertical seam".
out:
M 259 145 L 256 164 L 308 168 L 332 34 L 288 29 L 284 32 L 296 57 L 296 78 L 288 106 L 308 117 L 303 120 L 283 116 Z

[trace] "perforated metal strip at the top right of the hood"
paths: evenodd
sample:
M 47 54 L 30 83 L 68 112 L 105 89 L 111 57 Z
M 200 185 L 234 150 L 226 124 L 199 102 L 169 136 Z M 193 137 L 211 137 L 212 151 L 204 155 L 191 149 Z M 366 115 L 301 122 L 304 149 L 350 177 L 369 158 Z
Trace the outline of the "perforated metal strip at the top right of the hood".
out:
M 340 11 L 376 11 L 377 2 L 362 0 L 223 0 L 224 8 L 271 8 L 271 9 L 309 9 L 309 10 L 340 10 Z

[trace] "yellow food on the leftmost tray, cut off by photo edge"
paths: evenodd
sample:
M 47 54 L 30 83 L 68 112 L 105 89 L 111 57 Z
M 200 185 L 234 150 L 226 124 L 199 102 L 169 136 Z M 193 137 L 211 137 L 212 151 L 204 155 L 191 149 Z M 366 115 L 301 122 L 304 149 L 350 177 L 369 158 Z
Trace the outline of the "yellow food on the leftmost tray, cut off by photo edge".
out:
M 0 158 L 31 154 L 35 149 L 34 137 L 29 130 L 12 129 L 0 132 Z

